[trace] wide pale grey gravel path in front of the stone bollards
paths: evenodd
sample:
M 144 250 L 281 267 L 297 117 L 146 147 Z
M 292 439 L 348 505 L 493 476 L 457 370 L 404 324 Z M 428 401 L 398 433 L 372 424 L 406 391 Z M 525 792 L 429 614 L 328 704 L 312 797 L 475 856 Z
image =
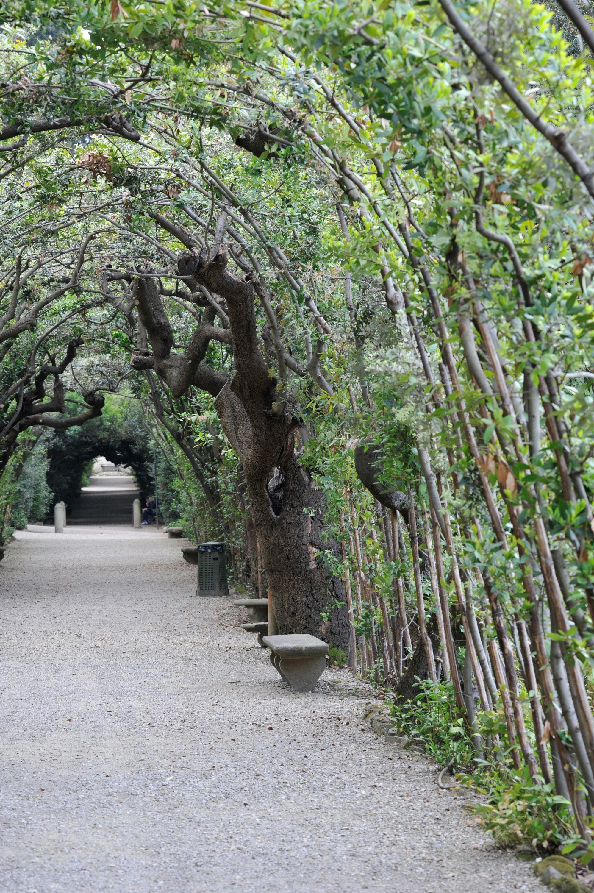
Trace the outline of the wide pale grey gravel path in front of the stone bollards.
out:
M 0 889 L 541 893 L 324 672 L 284 689 L 154 528 L 30 528 L 0 564 Z

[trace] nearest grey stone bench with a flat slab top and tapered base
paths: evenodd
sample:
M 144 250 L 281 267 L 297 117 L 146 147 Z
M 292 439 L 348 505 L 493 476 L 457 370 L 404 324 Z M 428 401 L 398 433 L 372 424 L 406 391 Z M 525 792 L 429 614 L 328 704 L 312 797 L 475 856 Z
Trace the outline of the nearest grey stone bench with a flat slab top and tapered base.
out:
M 310 635 L 264 636 L 270 659 L 293 691 L 314 691 L 326 669 L 329 648 L 321 638 Z

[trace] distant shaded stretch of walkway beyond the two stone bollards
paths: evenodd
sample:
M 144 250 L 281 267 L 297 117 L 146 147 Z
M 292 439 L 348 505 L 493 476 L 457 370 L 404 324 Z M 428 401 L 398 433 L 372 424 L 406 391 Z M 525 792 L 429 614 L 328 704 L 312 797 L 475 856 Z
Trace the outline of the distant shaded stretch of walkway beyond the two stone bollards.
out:
M 97 475 L 83 487 L 69 524 L 126 524 L 132 526 L 132 503 L 138 497 L 134 478 Z

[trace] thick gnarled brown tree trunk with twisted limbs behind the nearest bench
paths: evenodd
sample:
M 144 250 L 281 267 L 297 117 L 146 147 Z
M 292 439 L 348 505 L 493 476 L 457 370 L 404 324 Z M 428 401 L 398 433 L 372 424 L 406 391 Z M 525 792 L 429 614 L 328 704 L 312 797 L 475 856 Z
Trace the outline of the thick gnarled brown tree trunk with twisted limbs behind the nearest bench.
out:
M 155 215 L 157 222 L 159 215 Z M 163 226 L 172 230 L 169 221 Z M 218 228 L 218 225 L 217 225 Z M 175 227 L 184 244 L 191 238 Z M 249 276 L 238 279 L 227 271 L 222 246 L 210 251 L 192 247 L 180 255 L 180 274 L 208 288 L 226 302 L 229 329 L 215 325 L 212 306 L 206 306 L 184 355 L 172 354 L 172 327 L 155 280 L 137 281 L 138 320 L 146 329 L 152 355 L 132 356 L 137 369 L 152 368 L 174 396 L 188 388 L 202 388 L 215 397 L 222 428 L 242 463 L 252 519 L 280 633 L 323 635 L 337 647 L 347 647 L 344 605 L 321 626 L 320 613 L 328 600 L 346 599 L 337 581 L 330 580 L 317 561 L 322 548 L 339 555 L 336 543 L 322 544 L 322 491 L 314 487 L 298 462 L 295 432 L 300 422 L 291 396 L 281 392 L 264 362 L 255 326 L 254 285 Z M 235 374 L 211 369 L 204 362 L 211 340 L 231 343 Z

